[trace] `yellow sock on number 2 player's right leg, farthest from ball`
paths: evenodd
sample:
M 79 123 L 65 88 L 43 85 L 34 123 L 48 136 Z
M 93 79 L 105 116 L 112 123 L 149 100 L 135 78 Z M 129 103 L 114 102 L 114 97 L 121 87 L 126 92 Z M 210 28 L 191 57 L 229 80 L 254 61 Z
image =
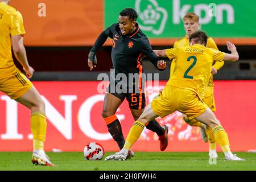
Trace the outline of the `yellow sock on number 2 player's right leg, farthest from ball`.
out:
M 226 133 L 224 128 L 219 125 L 214 127 L 212 131 L 216 139 L 216 142 L 221 147 L 222 151 L 224 152 L 230 151 L 228 134 Z

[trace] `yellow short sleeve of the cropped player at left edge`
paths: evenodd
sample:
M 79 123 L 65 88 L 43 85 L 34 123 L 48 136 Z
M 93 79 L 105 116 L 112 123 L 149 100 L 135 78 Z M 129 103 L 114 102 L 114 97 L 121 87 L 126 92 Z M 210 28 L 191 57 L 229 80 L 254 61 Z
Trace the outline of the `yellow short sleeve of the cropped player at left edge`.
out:
M 11 15 L 11 36 L 26 34 L 22 14 L 16 11 L 15 14 Z

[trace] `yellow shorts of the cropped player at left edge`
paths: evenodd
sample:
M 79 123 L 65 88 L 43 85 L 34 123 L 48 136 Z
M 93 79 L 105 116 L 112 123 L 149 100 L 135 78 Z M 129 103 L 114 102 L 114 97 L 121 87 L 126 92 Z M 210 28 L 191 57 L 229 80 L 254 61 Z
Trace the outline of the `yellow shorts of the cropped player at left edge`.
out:
M 18 68 L 8 76 L 0 78 L 0 90 L 12 99 L 23 96 L 32 86 L 31 81 Z

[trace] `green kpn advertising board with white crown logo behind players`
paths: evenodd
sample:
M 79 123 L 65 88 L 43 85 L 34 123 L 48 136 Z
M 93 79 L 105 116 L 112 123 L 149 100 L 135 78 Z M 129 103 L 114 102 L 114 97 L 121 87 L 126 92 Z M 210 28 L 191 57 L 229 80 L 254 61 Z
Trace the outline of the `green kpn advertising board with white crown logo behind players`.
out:
M 183 16 L 200 16 L 201 29 L 213 37 L 255 37 L 255 0 L 105 0 L 105 28 L 118 22 L 121 10 L 131 7 L 148 38 L 183 36 Z M 246 12 L 246 15 L 245 15 Z

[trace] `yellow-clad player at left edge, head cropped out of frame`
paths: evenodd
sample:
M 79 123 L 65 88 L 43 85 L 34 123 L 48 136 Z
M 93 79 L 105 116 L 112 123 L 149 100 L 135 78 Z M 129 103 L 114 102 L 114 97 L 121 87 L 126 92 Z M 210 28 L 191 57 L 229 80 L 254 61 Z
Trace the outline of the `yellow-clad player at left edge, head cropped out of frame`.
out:
M 23 46 L 25 30 L 22 15 L 9 6 L 9 2 L 10 0 L 0 0 L 0 90 L 31 110 L 34 145 L 32 163 L 54 166 L 44 152 L 47 125 L 44 101 L 30 80 L 14 65 L 12 46 L 16 59 L 23 66 L 27 77 L 32 77 L 34 69 L 28 64 Z

